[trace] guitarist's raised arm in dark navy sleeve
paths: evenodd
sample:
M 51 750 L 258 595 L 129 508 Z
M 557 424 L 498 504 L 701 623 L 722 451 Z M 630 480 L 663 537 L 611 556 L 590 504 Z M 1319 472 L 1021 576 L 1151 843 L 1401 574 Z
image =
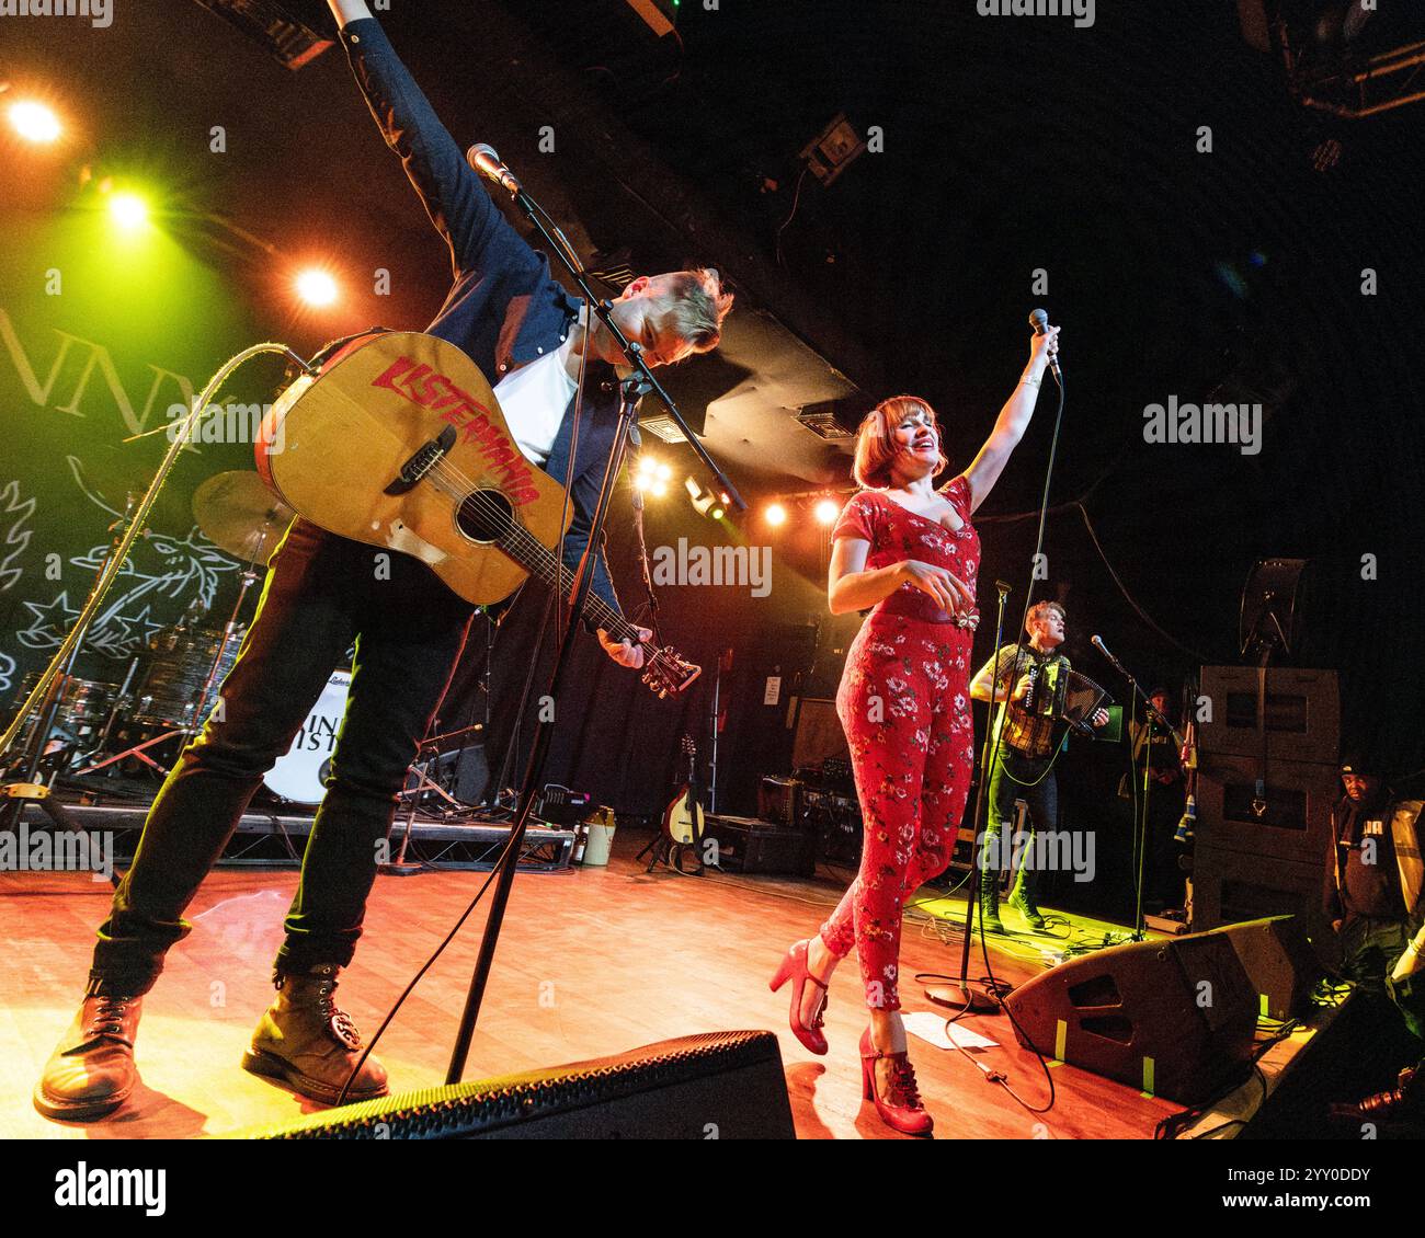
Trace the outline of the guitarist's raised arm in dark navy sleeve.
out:
M 366 0 L 326 3 L 341 27 L 342 46 L 366 105 L 386 145 L 400 155 L 430 222 L 450 246 L 455 274 L 480 271 L 492 245 L 499 245 L 506 262 L 512 255 L 527 255 L 530 262 L 537 262 L 484 192 L 455 138 L 400 63 L 380 23 L 372 17 Z

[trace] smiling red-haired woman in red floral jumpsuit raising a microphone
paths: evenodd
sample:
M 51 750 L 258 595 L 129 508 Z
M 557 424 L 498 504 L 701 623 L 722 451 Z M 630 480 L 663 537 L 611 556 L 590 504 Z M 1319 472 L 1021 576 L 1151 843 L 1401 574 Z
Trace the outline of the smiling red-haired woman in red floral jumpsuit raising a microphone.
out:
M 1029 365 L 973 463 L 939 490 L 935 413 L 915 396 L 878 405 L 856 436 L 864 487 L 832 530 L 832 614 L 871 607 L 846 652 L 836 712 L 846 731 L 865 825 L 861 870 L 817 936 L 797 942 L 772 989 L 795 980 L 792 1033 L 826 1051 L 826 984 L 855 949 L 871 1024 L 861 1037 L 862 1083 L 882 1121 L 929 1134 L 901 1023 L 902 907 L 950 862 L 973 761 L 969 675 L 979 613 L 979 536 L 985 501 L 1029 427 L 1059 329 L 1036 336 Z

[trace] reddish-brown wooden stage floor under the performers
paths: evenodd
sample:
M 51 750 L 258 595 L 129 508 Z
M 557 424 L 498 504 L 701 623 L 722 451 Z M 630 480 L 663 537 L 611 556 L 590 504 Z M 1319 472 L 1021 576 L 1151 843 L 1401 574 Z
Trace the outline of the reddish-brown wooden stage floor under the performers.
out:
M 809 936 L 841 893 L 829 879 L 703 879 L 646 875 L 633 855 L 647 841 L 620 833 L 607 869 L 520 873 L 496 956 L 467 1078 L 554 1066 L 715 1029 L 771 1029 L 781 1040 L 797 1131 L 802 1138 L 899 1138 L 861 1098 L 856 1041 L 865 1017 L 848 960 L 831 989 L 831 1053 L 815 1057 L 787 1029 L 787 990 L 768 992 L 778 956 Z M 484 873 L 428 872 L 378 878 L 366 935 L 341 987 L 363 1036 L 465 909 Z M 41 1118 L 30 1100 L 38 1071 L 80 1000 L 107 883 L 83 873 L 0 875 L 0 937 L 11 945 L 0 1009 L 0 1135 L 4 1138 L 191 1138 L 278 1123 L 311 1103 L 238 1066 L 272 996 L 269 970 L 281 920 L 296 886 L 292 870 L 218 870 L 145 1000 L 138 1036 L 142 1086 L 124 1110 L 91 1125 Z M 922 892 L 932 895 L 933 892 Z M 956 906 L 963 912 L 963 903 Z M 911 979 L 952 972 L 945 945 L 922 912 L 905 927 L 901 973 L 906 1011 L 932 1009 Z M 446 950 L 396 1017 L 378 1056 L 393 1093 L 443 1081 L 479 945 L 476 920 Z M 1006 923 L 1015 923 L 1013 912 Z M 1074 917 L 1082 933 L 1117 927 Z M 1067 932 L 1067 930 L 1064 930 Z M 1019 982 L 1043 966 L 1050 937 L 990 939 L 995 972 Z M 972 976 L 983 973 L 979 947 Z M 1029 1104 L 1047 1097 L 1045 1071 L 1019 1047 L 1005 1016 L 965 1020 L 1000 1047 L 980 1050 Z M 911 1037 L 912 1060 L 940 1138 L 1133 1138 L 1178 1107 L 1072 1066 L 1053 1068 L 1057 1100 L 1029 1113 L 965 1054 Z

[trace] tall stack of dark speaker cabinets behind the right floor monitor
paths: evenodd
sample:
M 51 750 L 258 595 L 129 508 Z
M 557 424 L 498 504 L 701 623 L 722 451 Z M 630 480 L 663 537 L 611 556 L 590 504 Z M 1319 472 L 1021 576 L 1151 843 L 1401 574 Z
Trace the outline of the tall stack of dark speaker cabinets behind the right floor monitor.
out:
M 1203 667 L 1193 927 L 1301 917 L 1330 954 L 1321 912 L 1331 808 L 1341 796 L 1335 671 Z

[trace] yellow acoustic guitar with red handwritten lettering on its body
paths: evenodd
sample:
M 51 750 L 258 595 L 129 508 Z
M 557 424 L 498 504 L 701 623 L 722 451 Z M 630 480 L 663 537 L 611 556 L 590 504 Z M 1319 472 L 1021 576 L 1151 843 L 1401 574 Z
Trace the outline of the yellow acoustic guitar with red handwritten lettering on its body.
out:
M 298 514 L 419 558 L 469 603 L 500 601 L 530 576 L 570 593 L 557 544 L 573 504 L 520 453 L 475 362 L 433 335 L 370 336 L 296 379 L 264 420 L 256 464 Z M 581 614 L 638 644 L 593 591 Z M 643 681 L 660 697 L 700 674 L 671 645 L 644 645 Z

